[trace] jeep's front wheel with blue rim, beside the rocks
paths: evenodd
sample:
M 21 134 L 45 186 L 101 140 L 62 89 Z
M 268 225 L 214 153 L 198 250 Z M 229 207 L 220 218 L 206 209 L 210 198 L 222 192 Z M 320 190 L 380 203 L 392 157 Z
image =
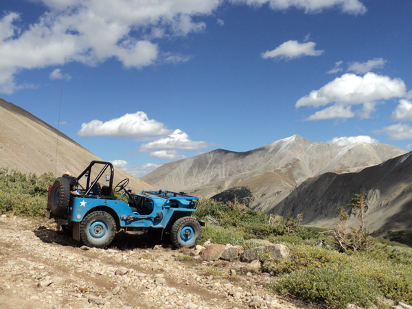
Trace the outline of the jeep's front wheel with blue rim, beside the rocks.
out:
M 192 217 L 176 220 L 170 231 L 170 240 L 176 248 L 192 248 L 199 238 L 201 238 L 201 225 Z

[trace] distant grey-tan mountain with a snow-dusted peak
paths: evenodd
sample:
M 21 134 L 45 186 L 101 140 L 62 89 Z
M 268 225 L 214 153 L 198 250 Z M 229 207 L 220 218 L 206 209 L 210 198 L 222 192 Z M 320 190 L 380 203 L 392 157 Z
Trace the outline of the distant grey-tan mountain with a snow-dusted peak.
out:
M 211 197 L 233 187 L 247 187 L 250 206 L 271 212 L 306 179 L 326 172 L 357 172 L 403 155 L 385 144 L 336 146 L 294 135 L 248 152 L 214 150 L 162 165 L 142 177 L 157 187 Z

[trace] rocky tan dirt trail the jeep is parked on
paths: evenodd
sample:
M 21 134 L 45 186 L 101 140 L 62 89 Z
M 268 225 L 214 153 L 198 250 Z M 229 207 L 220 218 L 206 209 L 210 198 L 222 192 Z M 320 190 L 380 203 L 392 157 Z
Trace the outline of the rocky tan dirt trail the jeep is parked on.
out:
M 0 308 L 309 308 L 242 262 L 202 261 L 148 236 L 81 247 L 54 221 L 0 216 Z

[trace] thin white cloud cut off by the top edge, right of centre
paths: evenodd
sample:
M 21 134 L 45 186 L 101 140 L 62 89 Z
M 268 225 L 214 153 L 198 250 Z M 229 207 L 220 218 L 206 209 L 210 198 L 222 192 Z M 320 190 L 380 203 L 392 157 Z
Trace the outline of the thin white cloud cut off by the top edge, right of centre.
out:
M 287 10 L 297 8 L 306 13 L 317 13 L 329 8 L 340 8 L 342 12 L 349 14 L 365 14 L 365 5 L 358 0 L 231 0 L 233 3 L 246 3 L 248 5 L 261 6 L 268 4 L 273 10 Z

